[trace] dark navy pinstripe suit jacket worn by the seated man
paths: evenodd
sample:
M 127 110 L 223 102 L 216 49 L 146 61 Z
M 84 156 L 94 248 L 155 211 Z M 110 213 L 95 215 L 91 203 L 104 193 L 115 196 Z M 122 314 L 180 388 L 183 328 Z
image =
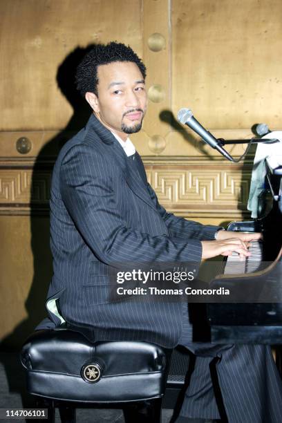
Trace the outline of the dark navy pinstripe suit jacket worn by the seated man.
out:
M 54 275 L 48 299 L 59 298 L 64 319 L 91 328 L 93 339 L 139 339 L 172 347 L 182 329 L 181 303 L 111 302 L 109 265 L 199 263 L 200 240 L 214 239 L 218 227 L 167 213 L 147 182 L 142 161 L 142 178 L 129 162 L 94 115 L 60 151 L 50 196 Z M 57 317 L 49 315 L 58 325 Z M 37 329 L 45 327 L 50 327 L 46 321 Z

